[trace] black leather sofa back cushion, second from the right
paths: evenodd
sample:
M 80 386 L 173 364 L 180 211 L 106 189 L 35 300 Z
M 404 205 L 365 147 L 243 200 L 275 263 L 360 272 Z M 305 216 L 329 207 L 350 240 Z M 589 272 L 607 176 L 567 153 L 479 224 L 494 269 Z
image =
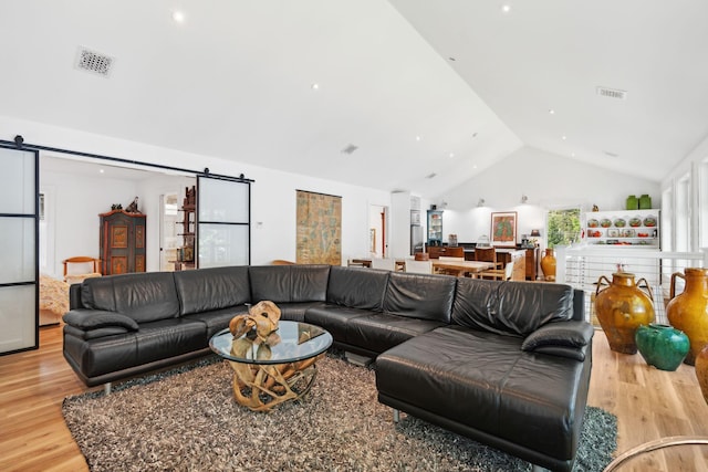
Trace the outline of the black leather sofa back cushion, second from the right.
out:
M 450 322 L 456 277 L 392 272 L 384 311 L 398 316 Z

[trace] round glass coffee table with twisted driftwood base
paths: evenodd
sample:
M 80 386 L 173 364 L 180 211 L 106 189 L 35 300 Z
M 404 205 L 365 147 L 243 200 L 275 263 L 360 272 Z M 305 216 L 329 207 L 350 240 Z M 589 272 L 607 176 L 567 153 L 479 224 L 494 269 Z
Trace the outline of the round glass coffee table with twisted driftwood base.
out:
M 316 375 L 315 363 L 332 345 L 332 335 L 306 323 L 281 321 L 266 340 L 253 332 L 235 339 L 226 328 L 209 347 L 233 369 L 233 396 L 253 411 L 302 398 Z

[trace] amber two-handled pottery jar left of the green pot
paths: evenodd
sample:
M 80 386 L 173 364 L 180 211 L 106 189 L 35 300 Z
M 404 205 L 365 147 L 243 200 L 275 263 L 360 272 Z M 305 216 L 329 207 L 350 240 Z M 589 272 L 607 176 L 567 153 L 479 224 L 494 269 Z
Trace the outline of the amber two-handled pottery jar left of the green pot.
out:
M 642 281 L 644 281 L 646 292 L 639 287 Z M 601 289 L 603 286 L 605 287 Z M 652 300 L 652 289 L 645 279 L 639 279 L 635 283 L 634 274 L 616 272 L 612 274 L 612 283 L 610 283 L 607 277 L 600 276 L 595 290 L 595 311 L 612 350 L 636 354 L 635 334 L 637 328 L 654 322 Z

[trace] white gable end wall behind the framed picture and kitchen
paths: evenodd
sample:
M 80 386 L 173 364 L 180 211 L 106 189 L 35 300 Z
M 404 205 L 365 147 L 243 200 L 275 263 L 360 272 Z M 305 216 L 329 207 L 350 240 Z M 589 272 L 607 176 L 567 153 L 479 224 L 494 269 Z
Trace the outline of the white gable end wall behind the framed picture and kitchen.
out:
M 521 234 L 545 225 L 549 209 L 580 207 L 590 211 L 623 209 L 629 195 L 648 193 L 654 208 L 660 204 L 660 185 L 524 147 L 500 164 L 447 192 L 442 218 L 445 238 L 456 233 L 459 242 L 489 235 L 492 211 L 517 211 L 517 242 Z M 521 204 L 521 196 L 529 197 Z M 486 207 L 477 208 L 480 198 Z

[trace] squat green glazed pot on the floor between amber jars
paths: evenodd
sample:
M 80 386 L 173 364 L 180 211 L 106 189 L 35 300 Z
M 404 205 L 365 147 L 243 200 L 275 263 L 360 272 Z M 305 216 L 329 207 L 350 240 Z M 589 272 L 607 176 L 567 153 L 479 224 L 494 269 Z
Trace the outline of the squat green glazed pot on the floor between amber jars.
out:
M 669 325 L 641 325 L 634 339 L 644 360 L 659 370 L 676 370 L 690 349 L 688 336 Z

